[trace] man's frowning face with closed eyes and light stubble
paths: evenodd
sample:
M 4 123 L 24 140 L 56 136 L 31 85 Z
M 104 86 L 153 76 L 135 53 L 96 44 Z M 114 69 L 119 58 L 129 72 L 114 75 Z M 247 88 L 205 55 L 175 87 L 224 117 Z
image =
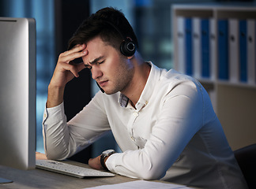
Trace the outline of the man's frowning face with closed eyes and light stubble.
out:
M 134 76 L 134 65 L 114 47 L 96 37 L 87 43 L 88 55 L 82 57 L 85 66 L 91 69 L 92 79 L 99 83 L 107 95 L 124 92 Z

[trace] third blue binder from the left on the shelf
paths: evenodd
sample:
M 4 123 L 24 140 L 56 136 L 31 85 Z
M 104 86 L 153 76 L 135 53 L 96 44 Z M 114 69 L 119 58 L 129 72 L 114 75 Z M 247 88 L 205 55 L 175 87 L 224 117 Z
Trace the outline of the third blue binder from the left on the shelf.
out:
M 228 20 L 218 20 L 218 77 L 228 80 Z

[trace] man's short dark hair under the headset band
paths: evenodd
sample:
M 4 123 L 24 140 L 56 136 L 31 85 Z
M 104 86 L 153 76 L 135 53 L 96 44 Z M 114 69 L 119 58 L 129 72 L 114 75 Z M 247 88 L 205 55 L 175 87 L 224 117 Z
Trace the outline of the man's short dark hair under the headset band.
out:
M 73 34 L 68 49 L 72 49 L 77 44 L 88 43 L 96 36 L 100 36 L 105 43 L 115 49 L 120 48 L 126 37 L 132 39 L 135 46 L 138 46 L 134 30 L 124 14 L 111 7 L 100 9 L 88 17 Z

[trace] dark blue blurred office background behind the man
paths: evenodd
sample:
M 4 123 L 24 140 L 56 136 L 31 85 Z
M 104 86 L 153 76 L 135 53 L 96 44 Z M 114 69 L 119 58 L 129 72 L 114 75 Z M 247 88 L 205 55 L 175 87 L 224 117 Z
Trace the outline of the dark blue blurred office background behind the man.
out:
M 43 152 L 42 118 L 47 100 L 47 85 L 58 60 L 67 48 L 68 40 L 81 21 L 105 6 L 122 9 L 134 27 L 140 53 L 146 61 L 171 69 L 173 45 L 171 39 L 171 5 L 175 3 L 243 4 L 245 1 L 221 0 L 0 0 L 0 17 L 34 17 L 36 19 L 36 150 Z M 1 34 L 0 34 L 1 35 Z M 1 42 L 0 42 L 1 43 Z M 82 71 L 78 79 L 66 86 L 64 102 L 68 120 L 72 118 L 98 91 L 92 84 L 90 72 Z M 104 143 L 102 143 L 104 141 Z M 107 143 L 106 143 L 107 141 Z M 102 150 L 119 150 L 111 133 L 90 146 L 75 158 L 87 161 Z

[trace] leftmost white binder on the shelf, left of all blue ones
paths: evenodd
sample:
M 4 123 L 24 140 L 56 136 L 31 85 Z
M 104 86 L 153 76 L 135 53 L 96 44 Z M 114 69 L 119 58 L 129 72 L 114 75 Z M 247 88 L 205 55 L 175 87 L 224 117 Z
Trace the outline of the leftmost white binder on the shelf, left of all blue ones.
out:
M 185 18 L 177 17 L 178 70 L 185 73 Z

